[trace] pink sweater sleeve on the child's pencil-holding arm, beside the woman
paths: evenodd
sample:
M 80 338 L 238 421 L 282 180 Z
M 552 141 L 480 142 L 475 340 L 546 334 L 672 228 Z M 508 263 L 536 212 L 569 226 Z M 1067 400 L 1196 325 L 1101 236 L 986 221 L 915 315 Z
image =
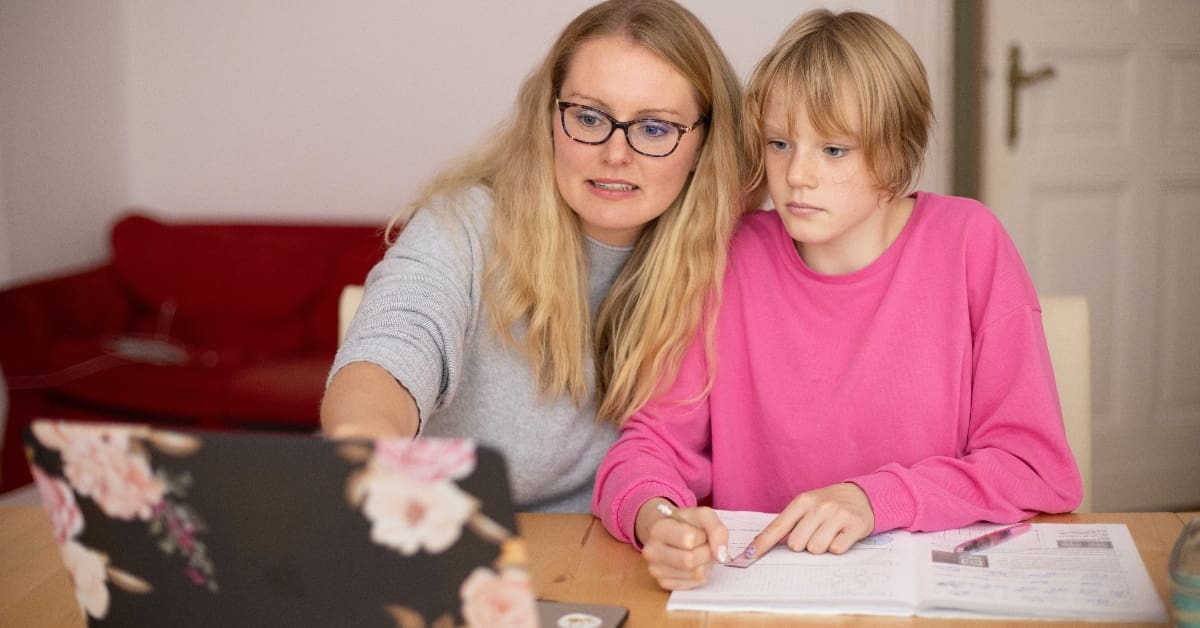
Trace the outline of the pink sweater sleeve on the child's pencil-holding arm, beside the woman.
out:
M 704 333 L 696 333 L 674 383 L 622 425 L 620 436 L 596 472 L 592 512 L 620 542 L 637 543 L 637 510 L 665 497 L 696 506 L 712 492 L 708 366 Z

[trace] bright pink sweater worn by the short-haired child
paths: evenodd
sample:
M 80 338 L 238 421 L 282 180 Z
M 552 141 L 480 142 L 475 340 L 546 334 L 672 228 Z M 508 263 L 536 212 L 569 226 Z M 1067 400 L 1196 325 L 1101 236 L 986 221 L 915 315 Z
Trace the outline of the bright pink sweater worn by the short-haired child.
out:
M 616 538 L 655 496 L 778 513 L 841 482 L 866 492 L 875 532 L 1079 506 L 1042 310 L 988 208 L 918 193 L 896 241 L 836 276 L 756 211 L 724 289 L 709 394 L 698 335 L 600 466 L 592 509 Z

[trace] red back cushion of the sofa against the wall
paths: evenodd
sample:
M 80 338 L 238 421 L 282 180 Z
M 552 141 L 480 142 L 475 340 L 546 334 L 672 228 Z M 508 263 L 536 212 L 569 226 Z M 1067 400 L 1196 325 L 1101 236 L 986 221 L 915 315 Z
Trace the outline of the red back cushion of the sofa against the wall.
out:
M 306 250 L 304 231 L 121 220 L 113 228 L 113 261 L 140 305 L 136 327 L 215 349 L 234 364 L 302 352 L 307 311 L 332 273 L 326 257 Z

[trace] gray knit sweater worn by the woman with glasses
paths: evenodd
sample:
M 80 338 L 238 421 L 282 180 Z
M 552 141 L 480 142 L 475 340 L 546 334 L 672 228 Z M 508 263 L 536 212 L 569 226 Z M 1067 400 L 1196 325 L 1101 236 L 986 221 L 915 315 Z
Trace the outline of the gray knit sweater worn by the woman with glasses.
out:
M 491 197 L 473 190 L 463 205 L 418 211 L 404 226 L 367 276 L 330 372 L 378 364 L 416 400 L 420 435 L 499 449 L 518 509 L 587 512 L 596 467 L 617 437 L 595 420 L 592 359 L 582 406 L 539 393 L 526 359 L 492 331 L 480 298 Z M 594 317 L 632 249 L 584 243 Z M 514 329 L 518 339 L 521 331 Z

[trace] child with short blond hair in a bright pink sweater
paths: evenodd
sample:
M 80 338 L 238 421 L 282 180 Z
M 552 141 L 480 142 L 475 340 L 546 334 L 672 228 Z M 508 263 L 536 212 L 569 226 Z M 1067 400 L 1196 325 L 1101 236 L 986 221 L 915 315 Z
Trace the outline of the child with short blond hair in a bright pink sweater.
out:
M 731 245 L 719 361 L 697 336 L 596 477 L 594 512 L 662 587 L 728 558 L 697 500 L 779 513 L 756 552 L 814 554 L 1079 504 L 1016 249 L 979 203 L 907 193 L 931 119 L 920 60 L 868 14 L 806 13 L 757 65 L 745 137 L 775 209 Z

